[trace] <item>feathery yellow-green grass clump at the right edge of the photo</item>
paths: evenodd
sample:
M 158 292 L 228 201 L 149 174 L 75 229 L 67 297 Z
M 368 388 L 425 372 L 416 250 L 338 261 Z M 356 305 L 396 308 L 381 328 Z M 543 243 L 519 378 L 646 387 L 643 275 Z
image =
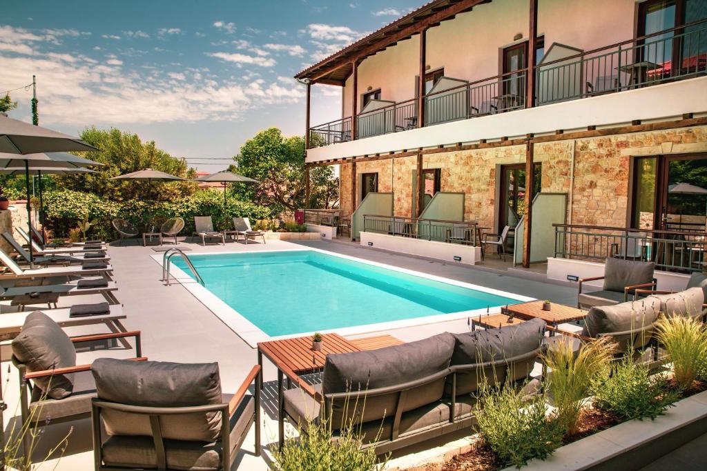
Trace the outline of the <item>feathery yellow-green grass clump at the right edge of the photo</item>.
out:
M 694 318 L 673 316 L 658 322 L 658 340 L 672 362 L 679 389 L 692 386 L 707 370 L 707 328 Z

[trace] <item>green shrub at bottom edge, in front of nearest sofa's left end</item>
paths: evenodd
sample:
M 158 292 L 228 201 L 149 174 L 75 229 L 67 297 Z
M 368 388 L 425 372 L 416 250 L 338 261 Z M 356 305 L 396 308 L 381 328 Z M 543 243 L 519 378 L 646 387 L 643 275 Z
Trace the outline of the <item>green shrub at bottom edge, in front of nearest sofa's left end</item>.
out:
M 332 442 L 332 430 L 326 421 L 310 422 L 298 439 L 289 438 L 281 451 L 273 453 L 276 471 L 382 471 L 373 448 L 361 450 L 358 435 L 351 425 L 339 431 Z

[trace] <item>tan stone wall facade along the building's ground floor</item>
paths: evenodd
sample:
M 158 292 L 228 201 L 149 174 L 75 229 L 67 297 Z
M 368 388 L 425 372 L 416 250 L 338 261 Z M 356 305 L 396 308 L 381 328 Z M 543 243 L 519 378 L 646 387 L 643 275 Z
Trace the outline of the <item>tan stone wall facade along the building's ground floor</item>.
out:
M 542 165 L 542 191 L 568 194 L 568 222 L 626 227 L 631 157 L 699 152 L 707 153 L 707 126 L 539 143 L 534 162 Z M 416 162 L 414 156 L 358 162 L 358 185 L 361 174 L 378 172 L 378 191 L 394 193 L 395 215 L 411 216 Z M 441 169 L 441 191 L 465 193 L 465 220 L 494 227 L 497 166 L 521 162 L 525 162 L 525 145 L 428 154 L 423 168 Z M 341 213 L 347 215 L 351 213 L 351 164 L 341 165 L 340 181 Z

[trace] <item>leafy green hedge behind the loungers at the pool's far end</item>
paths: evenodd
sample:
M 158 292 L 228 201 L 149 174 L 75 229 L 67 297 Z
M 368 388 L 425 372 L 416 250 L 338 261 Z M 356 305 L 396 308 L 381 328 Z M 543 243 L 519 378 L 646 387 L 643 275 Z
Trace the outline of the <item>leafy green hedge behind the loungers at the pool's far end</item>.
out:
M 158 218 L 182 217 L 186 227 L 182 233 L 194 230 L 194 216 L 211 216 L 215 229 L 232 225 L 233 217 L 250 217 L 252 220 L 270 219 L 276 215 L 273 209 L 235 199 L 232 194 L 226 198 L 226 211 L 223 206 L 223 193 L 212 190 L 197 191 L 191 196 L 176 201 L 110 201 L 92 193 L 58 190 L 48 191 L 44 195 L 45 223 L 52 229 L 55 237 L 66 237 L 71 227 L 76 227 L 80 220 L 93 221 L 88 234 L 90 237 L 115 239 L 111 221 L 120 218 L 132 222 L 142 230 L 148 222 Z

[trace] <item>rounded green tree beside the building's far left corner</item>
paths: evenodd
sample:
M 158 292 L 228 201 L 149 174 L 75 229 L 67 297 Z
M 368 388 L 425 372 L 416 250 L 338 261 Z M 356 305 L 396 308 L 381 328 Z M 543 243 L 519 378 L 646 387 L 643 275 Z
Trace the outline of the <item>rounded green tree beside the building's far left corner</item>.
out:
M 338 201 L 339 185 L 332 182 L 331 167 L 310 172 L 310 195 L 305 201 L 305 140 L 302 136 L 284 137 L 277 128 L 260 131 L 240 148 L 230 169 L 257 179 L 258 185 L 240 189 L 241 196 L 255 203 L 294 210 L 306 206 L 330 205 Z

